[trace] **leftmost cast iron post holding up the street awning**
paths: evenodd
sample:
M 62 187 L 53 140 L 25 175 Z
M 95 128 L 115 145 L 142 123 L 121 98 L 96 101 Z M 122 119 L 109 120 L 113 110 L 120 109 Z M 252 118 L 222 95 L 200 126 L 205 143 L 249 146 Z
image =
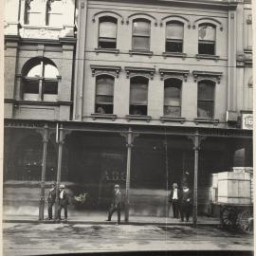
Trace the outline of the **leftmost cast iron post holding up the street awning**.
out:
M 43 160 L 42 160 L 42 178 L 41 178 L 41 192 L 40 192 L 40 204 L 39 204 L 39 220 L 44 220 L 45 210 L 45 186 L 46 186 L 46 155 L 47 155 L 47 143 L 48 143 L 48 126 L 44 126 L 43 134 Z

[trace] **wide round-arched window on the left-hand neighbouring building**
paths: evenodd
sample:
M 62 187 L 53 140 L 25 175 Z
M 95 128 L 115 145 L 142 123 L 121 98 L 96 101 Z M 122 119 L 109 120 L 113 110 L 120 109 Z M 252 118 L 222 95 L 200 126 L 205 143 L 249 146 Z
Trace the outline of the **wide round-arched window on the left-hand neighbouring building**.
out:
M 31 60 L 22 75 L 24 101 L 57 101 L 59 72 L 50 60 Z

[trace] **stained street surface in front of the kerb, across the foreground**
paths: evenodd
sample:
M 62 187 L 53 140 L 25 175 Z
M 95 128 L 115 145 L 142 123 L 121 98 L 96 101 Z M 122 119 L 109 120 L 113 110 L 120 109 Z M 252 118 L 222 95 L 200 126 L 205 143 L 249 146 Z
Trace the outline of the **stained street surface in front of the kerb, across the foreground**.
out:
M 4 255 L 143 250 L 253 250 L 253 236 L 237 230 L 113 224 L 4 223 Z

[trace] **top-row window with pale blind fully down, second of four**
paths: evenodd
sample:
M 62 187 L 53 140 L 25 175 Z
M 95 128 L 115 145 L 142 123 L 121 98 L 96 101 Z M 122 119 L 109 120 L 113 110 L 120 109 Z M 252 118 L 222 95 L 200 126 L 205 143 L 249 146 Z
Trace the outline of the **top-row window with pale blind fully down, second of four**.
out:
M 150 50 L 151 23 L 145 19 L 136 19 L 133 22 L 133 50 Z

